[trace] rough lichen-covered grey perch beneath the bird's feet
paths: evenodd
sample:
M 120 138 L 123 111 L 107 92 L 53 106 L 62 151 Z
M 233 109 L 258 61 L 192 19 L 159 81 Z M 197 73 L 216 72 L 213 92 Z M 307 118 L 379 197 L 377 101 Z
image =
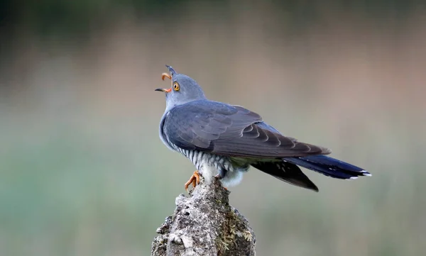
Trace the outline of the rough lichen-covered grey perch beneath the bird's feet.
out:
M 216 179 L 202 180 L 190 197 L 180 194 L 175 212 L 157 229 L 151 256 L 256 255 L 253 230 L 228 196 Z

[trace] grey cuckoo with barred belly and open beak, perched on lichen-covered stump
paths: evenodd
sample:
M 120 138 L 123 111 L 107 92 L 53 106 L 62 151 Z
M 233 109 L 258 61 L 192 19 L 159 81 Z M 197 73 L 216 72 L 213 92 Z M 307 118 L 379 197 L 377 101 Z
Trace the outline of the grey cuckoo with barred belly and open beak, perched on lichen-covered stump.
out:
M 194 79 L 166 67 L 170 74 L 163 73 L 162 78 L 170 79 L 172 87 L 155 89 L 165 92 L 160 139 L 197 168 L 185 189 L 195 187 L 200 174 L 206 182 L 218 178 L 224 187 L 234 186 L 250 166 L 314 191 L 317 186 L 298 166 L 337 179 L 371 176 L 365 169 L 326 156 L 331 152 L 327 148 L 281 134 L 253 111 L 207 99 Z

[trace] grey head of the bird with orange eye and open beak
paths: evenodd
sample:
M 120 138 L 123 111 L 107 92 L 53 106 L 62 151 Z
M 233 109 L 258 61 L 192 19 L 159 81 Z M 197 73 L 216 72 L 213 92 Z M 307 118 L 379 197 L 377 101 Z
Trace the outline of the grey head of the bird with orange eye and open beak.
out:
M 163 73 L 162 79 L 168 78 L 172 81 L 172 87 L 169 89 L 155 89 L 155 91 L 163 91 L 165 93 L 166 108 L 172 108 L 185 104 L 190 101 L 205 99 L 204 92 L 200 85 L 194 79 L 185 74 L 178 74 L 175 69 L 165 65 L 169 69 L 170 74 Z

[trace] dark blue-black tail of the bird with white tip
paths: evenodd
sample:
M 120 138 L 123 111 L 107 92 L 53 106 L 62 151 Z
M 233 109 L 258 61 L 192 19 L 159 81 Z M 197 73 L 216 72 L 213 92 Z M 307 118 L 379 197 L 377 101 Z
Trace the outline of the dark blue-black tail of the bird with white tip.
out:
M 337 179 L 356 179 L 359 176 L 371 176 L 365 169 L 326 155 L 288 157 L 283 160 Z

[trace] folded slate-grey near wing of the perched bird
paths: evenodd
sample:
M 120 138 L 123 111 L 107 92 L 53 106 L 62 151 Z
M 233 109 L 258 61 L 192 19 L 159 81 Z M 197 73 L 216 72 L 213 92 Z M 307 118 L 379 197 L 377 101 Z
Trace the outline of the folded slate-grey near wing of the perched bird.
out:
M 285 137 L 246 108 L 215 101 L 176 106 L 166 116 L 163 132 L 180 148 L 233 157 L 300 157 L 330 152 Z

